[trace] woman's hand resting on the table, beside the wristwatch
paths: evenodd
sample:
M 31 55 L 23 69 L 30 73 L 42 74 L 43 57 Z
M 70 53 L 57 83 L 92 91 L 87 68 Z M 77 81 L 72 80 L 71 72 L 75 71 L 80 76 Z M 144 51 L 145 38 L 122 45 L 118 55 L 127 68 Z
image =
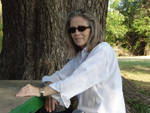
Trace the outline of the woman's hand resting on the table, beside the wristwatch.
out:
M 40 97 L 40 88 L 27 84 L 16 94 L 17 97 L 37 96 Z

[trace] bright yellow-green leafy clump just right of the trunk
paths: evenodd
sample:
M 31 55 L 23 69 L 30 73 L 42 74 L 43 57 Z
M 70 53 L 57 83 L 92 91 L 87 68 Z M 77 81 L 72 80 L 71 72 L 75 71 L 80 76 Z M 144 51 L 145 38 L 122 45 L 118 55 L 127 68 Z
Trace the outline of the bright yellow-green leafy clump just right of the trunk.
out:
M 123 25 L 124 16 L 117 10 L 108 12 L 107 25 L 106 25 L 106 39 L 110 44 L 116 43 L 118 45 L 120 41 L 123 41 L 123 37 L 128 31 L 127 27 Z

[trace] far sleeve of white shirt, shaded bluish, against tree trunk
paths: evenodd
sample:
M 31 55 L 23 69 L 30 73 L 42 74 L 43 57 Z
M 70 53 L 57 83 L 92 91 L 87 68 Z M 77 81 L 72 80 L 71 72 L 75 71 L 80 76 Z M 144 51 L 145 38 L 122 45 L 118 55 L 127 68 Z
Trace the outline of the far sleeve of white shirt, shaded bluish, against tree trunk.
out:
M 70 60 L 61 70 L 56 71 L 52 75 L 46 75 L 42 78 L 42 82 L 50 81 L 50 82 L 56 82 L 59 80 L 63 80 L 67 76 L 71 75 L 74 71 L 74 61 L 75 58 Z

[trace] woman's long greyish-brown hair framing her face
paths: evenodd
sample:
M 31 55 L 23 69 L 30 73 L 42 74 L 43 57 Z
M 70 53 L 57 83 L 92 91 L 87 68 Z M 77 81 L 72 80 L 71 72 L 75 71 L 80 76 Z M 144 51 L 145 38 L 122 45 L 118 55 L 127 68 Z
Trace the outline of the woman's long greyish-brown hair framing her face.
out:
M 100 32 L 100 23 L 94 15 L 88 11 L 82 9 L 71 12 L 66 20 L 65 24 L 65 34 L 67 37 L 67 46 L 69 49 L 68 58 L 72 58 L 77 55 L 81 48 L 78 47 L 71 38 L 71 34 L 68 32 L 70 27 L 70 21 L 73 17 L 81 16 L 88 21 L 89 26 L 91 27 L 91 33 L 86 45 L 87 51 L 90 52 L 98 43 L 105 41 L 105 37 L 101 35 Z

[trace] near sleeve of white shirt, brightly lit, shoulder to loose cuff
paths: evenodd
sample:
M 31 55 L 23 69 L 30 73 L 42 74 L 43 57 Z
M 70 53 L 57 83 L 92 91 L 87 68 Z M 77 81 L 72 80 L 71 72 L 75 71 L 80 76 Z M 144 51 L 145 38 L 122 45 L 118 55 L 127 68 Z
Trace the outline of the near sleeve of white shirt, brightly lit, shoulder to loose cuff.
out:
M 66 107 L 69 107 L 73 96 L 109 79 L 109 52 L 110 46 L 98 45 L 72 75 L 49 85 L 60 93 L 60 99 Z

